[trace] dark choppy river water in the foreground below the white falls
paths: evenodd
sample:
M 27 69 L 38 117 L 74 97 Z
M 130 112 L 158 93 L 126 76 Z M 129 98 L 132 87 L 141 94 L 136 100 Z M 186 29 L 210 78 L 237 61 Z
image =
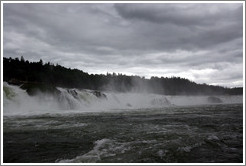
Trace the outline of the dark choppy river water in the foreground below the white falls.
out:
M 4 163 L 241 163 L 243 105 L 4 117 Z

